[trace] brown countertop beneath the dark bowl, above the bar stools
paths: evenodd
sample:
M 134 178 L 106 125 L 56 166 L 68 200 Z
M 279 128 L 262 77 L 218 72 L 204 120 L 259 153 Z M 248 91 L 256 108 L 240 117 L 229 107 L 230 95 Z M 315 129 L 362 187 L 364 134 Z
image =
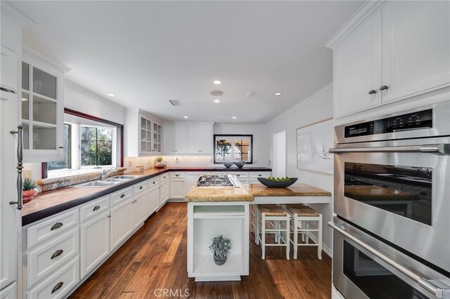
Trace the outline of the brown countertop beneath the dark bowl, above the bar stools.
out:
M 287 188 L 269 188 L 261 184 L 250 184 L 248 191 L 254 197 L 330 197 L 331 192 L 317 187 L 296 183 Z

